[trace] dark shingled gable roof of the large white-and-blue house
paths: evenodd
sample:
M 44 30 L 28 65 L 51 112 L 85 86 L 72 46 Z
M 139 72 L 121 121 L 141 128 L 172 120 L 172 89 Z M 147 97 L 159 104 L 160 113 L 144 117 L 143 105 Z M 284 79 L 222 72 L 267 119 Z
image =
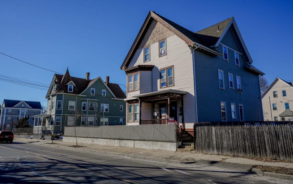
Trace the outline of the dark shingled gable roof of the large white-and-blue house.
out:
M 252 59 L 248 53 L 248 50 L 244 44 L 240 31 L 233 17 L 194 33 L 172 22 L 171 20 L 157 14 L 156 12 L 150 11 L 148 13 L 148 16 L 145 19 L 145 22 L 141 26 L 141 29 L 139 30 L 134 40 L 134 43 L 132 44 L 128 54 L 126 55 L 126 58 L 124 59 L 120 69 L 122 70 L 125 69 L 125 66 L 129 64 L 131 58 L 133 57 L 135 51 L 137 50 L 139 43 L 143 39 L 153 19 L 155 19 L 157 22 L 161 23 L 167 29 L 172 31 L 174 34 L 180 37 L 183 41 L 185 41 L 186 44 L 188 44 L 189 46 L 196 47 L 196 48 L 199 48 L 199 50 L 211 53 L 213 55 L 220 55 L 220 56 L 222 56 L 222 53 L 219 53 L 218 51 L 216 51 L 216 48 L 218 47 L 220 41 L 226 34 L 229 27 L 233 24 L 236 30 L 236 33 L 240 39 L 240 42 L 244 48 L 244 51 L 249 59 L 249 63 L 252 63 Z

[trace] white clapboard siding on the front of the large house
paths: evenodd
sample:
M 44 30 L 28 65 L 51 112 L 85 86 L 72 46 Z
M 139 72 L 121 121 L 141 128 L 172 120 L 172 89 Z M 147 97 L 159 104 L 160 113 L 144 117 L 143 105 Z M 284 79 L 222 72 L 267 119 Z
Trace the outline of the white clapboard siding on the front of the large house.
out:
M 192 66 L 192 53 L 188 45 L 181 40 L 178 36 L 173 35 L 167 37 L 167 55 L 159 57 L 159 43 L 156 42 L 150 45 L 150 61 L 143 62 L 143 49 L 138 49 L 134 54 L 128 68 L 137 65 L 155 65 L 152 69 L 152 77 L 143 79 L 152 83 L 152 92 L 165 89 L 175 89 L 187 91 L 184 95 L 184 121 L 191 123 L 195 122 L 195 97 L 194 97 L 194 81 L 193 81 L 193 66 Z M 174 86 L 168 88 L 160 88 L 160 69 L 167 66 L 174 65 Z M 142 86 L 141 86 L 142 87 Z M 130 92 L 127 97 L 133 97 L 139 94 L 138 91 Z M 130 123 L 128 123 L 129 125 Z

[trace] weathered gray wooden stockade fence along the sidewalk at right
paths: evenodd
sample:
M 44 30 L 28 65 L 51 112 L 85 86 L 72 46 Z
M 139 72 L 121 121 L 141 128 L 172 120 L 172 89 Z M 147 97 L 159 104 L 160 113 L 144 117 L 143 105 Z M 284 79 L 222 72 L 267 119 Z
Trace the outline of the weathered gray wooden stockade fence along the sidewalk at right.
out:
M 293 125 L 196 126 L 195 150 L 293 161 Z

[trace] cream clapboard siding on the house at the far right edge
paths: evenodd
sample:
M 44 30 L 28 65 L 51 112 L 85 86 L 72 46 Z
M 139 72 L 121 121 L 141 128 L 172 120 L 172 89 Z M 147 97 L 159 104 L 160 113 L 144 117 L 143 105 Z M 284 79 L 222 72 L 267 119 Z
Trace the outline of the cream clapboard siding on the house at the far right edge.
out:
M 282 90 L 286 90 L 287 97 L 283 97 Z M 277 91 L 278 97 L 274 98 L 273 91 Z M 271 100 L 271 103 L 269 102 Z M 265 120 L 274 120 L 274 117 L 280 119 L 280 114 L 285 111 L 285 102 L 289 102 L 290 110 L 293 111 L 293 88 L 288 83 L 280 79 L 276 79 L 268 90 L 262 95 L 262 106 Z M 273 110 L 273 104 L 277 104 L 277 110 Z M 272 109 L 272 115 L 271 115 Z M 285 117 L 285 120 L 293 117 Z

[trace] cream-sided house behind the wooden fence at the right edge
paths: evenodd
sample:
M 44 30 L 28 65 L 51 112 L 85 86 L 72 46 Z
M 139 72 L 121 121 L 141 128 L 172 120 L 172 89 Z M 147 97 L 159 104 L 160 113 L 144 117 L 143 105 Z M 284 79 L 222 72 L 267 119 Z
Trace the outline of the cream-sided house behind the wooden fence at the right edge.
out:
M 277 77 L 262 94 L 263 115 L 269 121 L 293 121 L 293 84 Z

